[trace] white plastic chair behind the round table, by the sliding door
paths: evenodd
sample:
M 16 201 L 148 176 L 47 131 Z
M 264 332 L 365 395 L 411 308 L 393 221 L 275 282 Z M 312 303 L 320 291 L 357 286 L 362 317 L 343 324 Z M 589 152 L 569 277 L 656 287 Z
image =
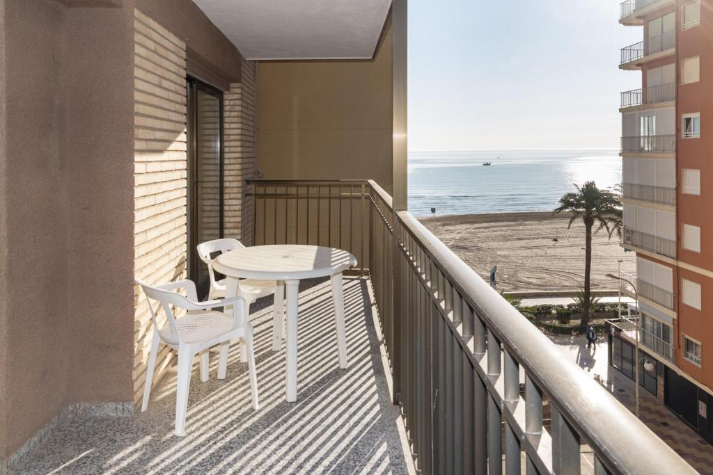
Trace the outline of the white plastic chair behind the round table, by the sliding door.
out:
M 214 239 L 206 241 L 196 246 L 200 260 L 208 266 L 208 276 L 210 277 L 210 291 L 208 298 L 225 297 L 226 279 L 217 280 L 213 271 L 212 254 L 223 253 L 235 249 L 245 249 L 237 239 Z M 277 351 L 282 346 L 284 338 L 284 283 L 275 281 L 259 281 L 257 279 L 246 278 L 239 282 L 238 296 L 245 298 L 245 315 L 250 315 L 250 304 L 260 297 L 269 296 L 275 293 L 275 315 L 272 318 L 272 350 Z

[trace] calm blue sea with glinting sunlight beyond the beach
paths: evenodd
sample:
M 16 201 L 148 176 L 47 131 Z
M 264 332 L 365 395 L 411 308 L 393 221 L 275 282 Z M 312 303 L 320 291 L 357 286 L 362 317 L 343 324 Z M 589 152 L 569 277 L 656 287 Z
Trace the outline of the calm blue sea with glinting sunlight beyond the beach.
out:
M 575 184 L 590 180 L 600 188 L 621 183 L 618 150 L 409 152 L 409 212 L 551 211 Z

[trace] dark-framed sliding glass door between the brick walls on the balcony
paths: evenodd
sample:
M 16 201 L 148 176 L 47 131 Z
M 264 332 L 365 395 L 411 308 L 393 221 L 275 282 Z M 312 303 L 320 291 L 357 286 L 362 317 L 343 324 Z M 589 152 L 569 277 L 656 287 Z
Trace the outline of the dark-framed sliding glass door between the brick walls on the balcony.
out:
M 223 235 L 222 91 L 188 78 L 188 273 L 207 295 L 208 271 L 195 246 Z

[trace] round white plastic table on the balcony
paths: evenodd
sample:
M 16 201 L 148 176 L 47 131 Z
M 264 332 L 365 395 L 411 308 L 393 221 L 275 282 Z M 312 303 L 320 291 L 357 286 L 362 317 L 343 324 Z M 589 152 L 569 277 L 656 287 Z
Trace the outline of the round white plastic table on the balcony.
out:
M 227 277 L 226 296 L 238 295 L 238 279 L 284 281 L 287 293 L 287 401 L 297 400 L 297 298 L 299 281 L 304 278 L 329 276 L 332 281 L 334 313 L 337 320 L 339 367 L 347 367 L 347 337 L 344 329 L 344 294 L 342 272 L 356 265 L 356 258 L 347 251 L 322 246 L 279 244 L 252 246 L 221 254 L 215 259 L 215 271 Z M 275 289 L 273 349 L 277 323 L 282 328 L 282 286 Z M 281 330 L 279 330 L 280 333 Z M 279 341 L 279 340 L 278 340 Z M 279 348 L 279 346 L 277 346 Z

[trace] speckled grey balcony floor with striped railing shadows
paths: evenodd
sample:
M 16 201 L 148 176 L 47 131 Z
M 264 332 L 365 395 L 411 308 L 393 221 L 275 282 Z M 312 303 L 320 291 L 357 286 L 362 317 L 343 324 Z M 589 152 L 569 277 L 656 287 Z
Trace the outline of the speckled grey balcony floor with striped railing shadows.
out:
M 227 379 L 201 383 L 194 367 L 187 430 L 173 436 L 175 372 L 128 417 L 70 417 L 16 467 L 21 474 L 408 473 L 391 404 L 369 281 L 344 285 L 349 368 L 340 370 L 329 281 L 302 283 L 298 401 L 284 400 L 284 344 L 271 349 L 272 298 L 253 306 L 260 410 L 247 365 L 232 348 Z M 257 310 L 256 310 L 257 308 Z

